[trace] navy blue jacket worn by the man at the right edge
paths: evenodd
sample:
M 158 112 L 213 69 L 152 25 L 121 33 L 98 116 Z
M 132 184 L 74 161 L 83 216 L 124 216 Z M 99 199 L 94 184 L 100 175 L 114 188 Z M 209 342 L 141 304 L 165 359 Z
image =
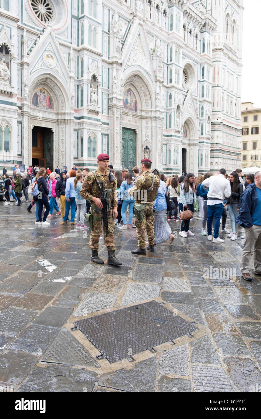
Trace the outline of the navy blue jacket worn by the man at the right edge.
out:
M 253 190 L 253 195 L 251 189 Z M 241 208 L 235 220 L 238 225 L 241 225 L 244 228 L 252 227 L 252 215 L 256 209 L 256 204 L 257 192 L 256 185 L 253 183 L 252 185 L 249 185 L 241 195 Z

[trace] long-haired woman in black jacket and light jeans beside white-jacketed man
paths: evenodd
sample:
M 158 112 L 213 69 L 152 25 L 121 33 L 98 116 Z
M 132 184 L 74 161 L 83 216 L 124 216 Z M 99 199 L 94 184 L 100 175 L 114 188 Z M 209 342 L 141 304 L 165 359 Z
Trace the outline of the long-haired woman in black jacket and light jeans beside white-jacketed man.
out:
M 241 207 L 241 195 L 243 194 L 243 185 L 239 180 L 239 176 L 237 172 L 230 173 L 230 188 L 231 188 L 231 195 L 227 198 L 227 207 L 230 216 L 230 223 L 232 228 L 232 233 L 230 233 L 227 237 L 230 237 L 230 240 L 236 240 L 237 236 L 237 229 L 238 224 L 235 222 L 236 217 L 238 216 L 238 212 Z M 226 205 L 225 204 L 225 205 Z

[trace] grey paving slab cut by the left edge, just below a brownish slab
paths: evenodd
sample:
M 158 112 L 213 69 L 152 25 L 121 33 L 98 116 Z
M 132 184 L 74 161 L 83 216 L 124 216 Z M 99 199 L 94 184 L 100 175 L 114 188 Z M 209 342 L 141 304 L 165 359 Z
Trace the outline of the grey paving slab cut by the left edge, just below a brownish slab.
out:
M 16 336 L 37 314 L 37 311 L 7 308 L 0 314 L 1 332 Z

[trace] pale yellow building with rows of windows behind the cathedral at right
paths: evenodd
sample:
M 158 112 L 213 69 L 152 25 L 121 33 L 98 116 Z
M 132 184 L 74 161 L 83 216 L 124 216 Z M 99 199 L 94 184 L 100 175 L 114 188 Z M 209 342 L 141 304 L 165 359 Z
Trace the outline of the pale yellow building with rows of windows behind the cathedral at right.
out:
M 252 102 L 243 102 L 241 167 L 261 167 L 261 109 L 254 108 Z

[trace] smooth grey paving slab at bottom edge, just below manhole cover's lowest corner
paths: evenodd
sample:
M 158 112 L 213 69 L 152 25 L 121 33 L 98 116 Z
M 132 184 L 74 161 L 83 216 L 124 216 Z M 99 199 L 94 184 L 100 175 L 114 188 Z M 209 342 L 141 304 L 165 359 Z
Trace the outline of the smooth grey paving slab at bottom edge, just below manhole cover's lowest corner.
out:
M 137 362 L 134 367 L 101 375 L 98 385 L 129 392 L 153 392 L 156 379 L 156 357 Z

